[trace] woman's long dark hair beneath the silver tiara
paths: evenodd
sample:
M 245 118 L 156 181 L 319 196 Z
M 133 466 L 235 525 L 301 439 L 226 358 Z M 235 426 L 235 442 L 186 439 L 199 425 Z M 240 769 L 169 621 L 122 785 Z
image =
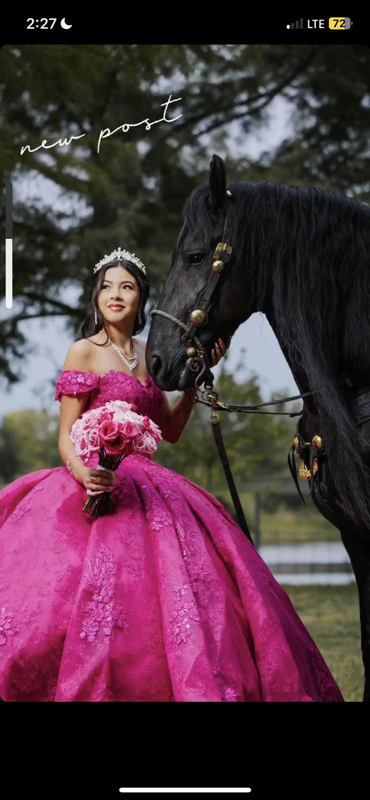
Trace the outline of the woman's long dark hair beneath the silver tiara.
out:
M 143 270 L 140 270 L 139 266 L 136 266 L 134 262 L 126 261 L 126 259 L 123 260 L 122 258 L 120 258 L 119 260 L 115 259 L 115 261 L 111 261 L 108 264 L 102 266 L 102 268 L 95 274 L 93 278 L 93 283 L 90 290 L 89 310 L 81 326 L 81 335 L 83 339 L 87 339 L 90 336 L 94 336 L 94 334 L 97 334 L 103 326 L 103 329 L 107 334 L 107 341 L 108 341 L 109 335 L 103 316 L 99 310 L 98 298 L 104 283 L 106 272 L 107 270 L 111 269 L 111 266 L 123 266 L 124 270 L 127 270 L 127 272 L 130 272 L 130 274 L 134 276 L 139 286 L 140 306 L 138 314 L 136 314 L 135 318 L 134 330 L 132 331 L 133 336 L 135 336 L 135 334 L 139 334 L 140 331 L 143 330 L 147 324 L 147 318 L 145 316 L 144 309 L 147 304 L 147 298 L 149 297 L 151 290 L 149 282 L 147 281 L 147 278 L 144 275 Z M 95 325 L 95 309 L 98 315 L 98 322 L 96 325 Z M 140 323 L 139 323 L 139 311 L 141 312 Z M 103 342 L 103 344 L 107 344 L 107 342 Z

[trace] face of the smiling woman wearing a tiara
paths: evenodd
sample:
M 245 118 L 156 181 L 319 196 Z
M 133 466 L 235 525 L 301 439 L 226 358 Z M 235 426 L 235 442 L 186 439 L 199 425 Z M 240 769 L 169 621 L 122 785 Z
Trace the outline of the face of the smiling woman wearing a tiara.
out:
M 123 266 L 111 266 L 104 275 L 98 305 L 107 322 L 126 322 L 134 326 L 140 308 L 139 286 Z

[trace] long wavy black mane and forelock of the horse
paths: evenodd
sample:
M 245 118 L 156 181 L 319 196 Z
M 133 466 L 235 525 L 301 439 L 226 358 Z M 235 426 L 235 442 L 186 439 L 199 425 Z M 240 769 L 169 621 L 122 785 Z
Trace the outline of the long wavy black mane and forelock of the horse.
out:
M 370 530 L 362 434 L 339 386 L 348 374 L 358 386 L 370 387 L 370 209 L 314 188 L 244 181 L 230 188 L 231 244 L 245 265 L 253 306 L 262 310 L 268 298 L 281 346 L 316 393 L 319 433 L 340 505 Z M 196 189 L 184 217 L 185 226 L 210 239 L 208 194 L 207 186 Z

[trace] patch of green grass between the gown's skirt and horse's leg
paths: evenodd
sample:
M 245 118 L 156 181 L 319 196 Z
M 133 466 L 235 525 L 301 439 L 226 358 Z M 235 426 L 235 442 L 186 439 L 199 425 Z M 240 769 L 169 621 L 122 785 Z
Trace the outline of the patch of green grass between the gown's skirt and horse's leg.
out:
M 346 702 L 361 702 L 364 669 L 356 585 L 284 586 Z

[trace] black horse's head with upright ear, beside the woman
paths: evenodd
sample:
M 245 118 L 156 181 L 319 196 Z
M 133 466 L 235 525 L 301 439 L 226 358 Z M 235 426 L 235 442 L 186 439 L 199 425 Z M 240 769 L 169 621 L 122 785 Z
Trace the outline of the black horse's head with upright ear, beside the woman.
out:
M 214 155 L 208 184 L 195 189 L 187 200 L 183 228 L 158 304 L 158 310 L 171 314 L 171 317 L 183 322 L 187 329 L 193 323 L 192 335 L 196 335 L 208 359 L 211 358 L 214 342 L 219 338 L 226 342 L 251 314 L 237 243 L 232 241 L 234 209 L 228 214 L 229 221 L 231 218 L 230 230 L 227 224 L 227 242 L 233 248 L 231 258 L 218 273 L 211 294 L 211 305 L 203 303 L 203 291 L 208 278 L 212 275 L 212 281 L 215 282 L 217 272 L 212 272 L 212 265 L 217 259 L 215 248 L 223 241 L 227 211 L 233 202 L 234 199 L 227 195 L 224 162 Z M 199 325 L 197 316 L 191 317 L 191 314 L 204 305 L 208 305 L 207 315 L 205 322 Z M 186 330 L 173 319 L 159 314 L 153 316 L 147 340 L 147 370 L 163 390 L 183 390 L 194 386 L 196 374 L 191 371 L 191 351 L 188 349 L 191 342 L 185 334 Z

